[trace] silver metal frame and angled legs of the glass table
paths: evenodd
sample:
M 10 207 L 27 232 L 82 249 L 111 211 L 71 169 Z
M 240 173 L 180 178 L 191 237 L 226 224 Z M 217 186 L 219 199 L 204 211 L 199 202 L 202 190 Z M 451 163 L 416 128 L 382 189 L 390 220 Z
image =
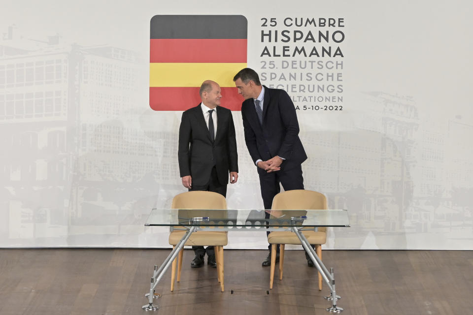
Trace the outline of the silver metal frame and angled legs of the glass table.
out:
M 304 217 L 291 217 L 291 221 L 293 223 L 297 221 L 304 221 L 304 219 L 305 219 Z M 205 217 L 193 218 L 192 223 L 196 224 L 198 222 L 207 221 L 207 220 L 208 218 L 205 218 Z M 346 225 L 346 226 L 349 226 L 349 225 Z M 143 310 L 155 311 L 159 309 L 158 305 L 153 304 L 154 299 L 161 297 L 160 294 L 156 293 L 155 288 L 160 282 L 160 280 L 163 278 L 165 272 L 168 270 L 169 265 L 176 258 L 177 254 L 182 250 L 182 248 L 184 247 L 184 244 L 187 242 L 191 234 L 195 231 L 215 231 L 215 228 L 211 228 L 211 225 L 208 225 L 208 227 L 202 227 L 202 226 L 197 226 L 197 225 L 192 225 L 192 226 L 182 225 L 182 227 L 186 229 L 186 233 L 184 234 L 184 236 L 177 243 L 174 249 L 169 253 L 168 257 L 161 264 L 161 266 L 159 268 L 158 268 L 158 265 L 154 266 L 153 277 L 151 277 L 149 293 L 145 294 L 145 297 L 148 299 L 148 304 L 142 306 Z M 219 229 L 220 231 L 235 231 L 235 230 L 236 231 L 251 231 L 251 230 L 256 229 L 255 227 L 248 228 L 247 226 L 245 226 L 246 228 L 240 228 L 240 229 L 234 229 L 233 226 L 219 226 L 219 227 L 220 227 Z M 302 246 L 304 247 L 305 252 L 308 254 L 312 262 L 315 264 L 315 267 L 320 272 L 325 283 L 330 288 L 331 293 L 325 296 L 324 298 L 328 301 L 332 301 L 332 306 L 327 308 L 326 310 L 331 313 L 342 312 L 343 309 L 337 306 L 337 300 L 339 300 L 341 297 L 336 294 L 334 268 L 330 268 L 330 272 L 327 270 L 327 267 L 325 267 L 322 260 L 320 260 L 320 258 L 315 253 L 314 249 L 310 246 L 304 234 L 301 233 L 301 230 L 306 231 L 308 230 L 308 227 L 307 226 L 300 226 L 300 227 L 291 226 L 291 227 L 277 227 L 277 229 L 267 227 L 267 228 L 263 228 L 263 230 L 264 231 L 274 231 L 274 230 L 292 231 L 297 235 L 297 237 L 301 241 Z M 317 231 L 317 227 L 314 227 L 314 230 Z

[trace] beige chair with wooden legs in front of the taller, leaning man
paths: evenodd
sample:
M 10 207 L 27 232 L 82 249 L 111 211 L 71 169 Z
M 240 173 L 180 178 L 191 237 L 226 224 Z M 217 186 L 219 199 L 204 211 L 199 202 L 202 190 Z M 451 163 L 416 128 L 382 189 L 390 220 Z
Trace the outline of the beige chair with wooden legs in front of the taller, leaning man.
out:
M 289 190 L 280 192 L 274 196 L 271 209 L 273 210 L 290 210 L 290 209 L 327 209 L 327 199 L 323 194 L 311 190 Z M 315 245 L 315 252 L 322 259 L 322 244 L 327 239 L 326 228 L 319 227 L 318 231 L 304 231 L 307 241 Z M 271 270 L 270 270 L 270 289 L 274 280 L 274 269 L 276 260 L 276 246 L 279 248 L 279 280 L 282 280 L 282 271 L 284 267 L 284 245 L 285 244 L 301 244 L 296 233 L 290 231 L 274 231 L 268 235 L 268 242 L 271 244 Z M 319 290 L 322 290 L 322 275 L 318 273 Z

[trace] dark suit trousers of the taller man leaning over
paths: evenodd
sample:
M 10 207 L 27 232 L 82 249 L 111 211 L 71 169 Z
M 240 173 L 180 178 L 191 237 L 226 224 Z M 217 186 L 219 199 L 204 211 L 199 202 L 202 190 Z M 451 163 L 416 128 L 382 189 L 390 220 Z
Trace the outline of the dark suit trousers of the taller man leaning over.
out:
M 265 170 L 258 168 L 261 196 L 263 197 L 265 209 L 271 209 L 272 199 L 281 191 L 279 183 L 285 191 L 304 189 L 304 177 L 302 176 L 301 164 L 286 169 L 284 163 L 285 161 L 281 164 L 281 170 L 271 173 L 267 173 Z M 269 219 L 270 214 L 265 213 L 265 218 Z M 266 235 L 268 234 L 270 234 L 269 231 L 266 232 Z M 268 249 L 271 250 L 271 244 L 268 245 Z M 277 252 L 279 252 L 279 244 L 277 245 Z

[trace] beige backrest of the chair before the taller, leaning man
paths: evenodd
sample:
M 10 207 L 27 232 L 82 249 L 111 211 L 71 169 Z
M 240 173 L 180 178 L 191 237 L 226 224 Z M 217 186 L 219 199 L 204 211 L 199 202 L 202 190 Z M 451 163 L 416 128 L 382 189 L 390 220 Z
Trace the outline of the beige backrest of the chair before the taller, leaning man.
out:
M 278 193 L 272 199 L 271 209 L 278 210 L 325 210 L 327 198 L 320 192 L 304 189 L 288 190 Z M 319 232 L 325 232 L 325 227 L 319 227 Z

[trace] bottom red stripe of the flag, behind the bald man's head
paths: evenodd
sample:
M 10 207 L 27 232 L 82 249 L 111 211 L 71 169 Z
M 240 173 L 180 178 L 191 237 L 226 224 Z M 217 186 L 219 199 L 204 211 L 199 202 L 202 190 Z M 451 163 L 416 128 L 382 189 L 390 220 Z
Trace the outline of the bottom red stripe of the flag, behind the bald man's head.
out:
M 197 106 L 201 102 L 200 88 L 149 88 L 149 106 L 159 111 L 184 111 Z M 221 88 L 221 105 L 233 111 L 241 110 L 243 97 L 238 95 L 236 88 Z

